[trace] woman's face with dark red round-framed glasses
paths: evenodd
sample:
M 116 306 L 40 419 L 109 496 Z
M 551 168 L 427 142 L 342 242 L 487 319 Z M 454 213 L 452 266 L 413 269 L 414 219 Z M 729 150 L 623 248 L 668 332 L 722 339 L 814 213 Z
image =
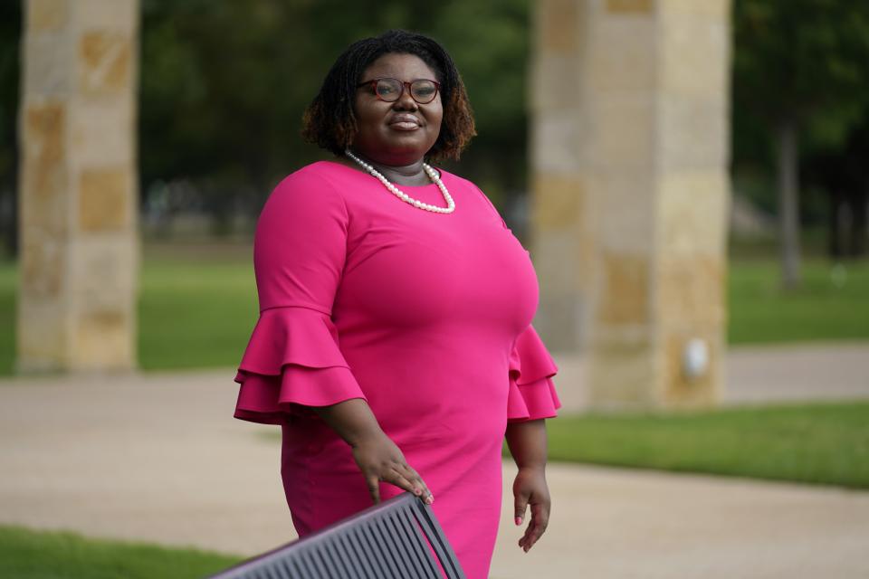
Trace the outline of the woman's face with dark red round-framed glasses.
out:
M 362 73 L 359 82 L 390 77 L 411 82 L 437 81 L 433 71 L 413 54 L 384 54 Z M 425 156 L 441 132 L 444 107 L 438 91 L 435 100 L 419 104 L 405 88 L 395 102 L 377 98 L 371 85 L 359 87 L 355 103 L 358 133 L 352 148 L 377 164 L 411 165 Z

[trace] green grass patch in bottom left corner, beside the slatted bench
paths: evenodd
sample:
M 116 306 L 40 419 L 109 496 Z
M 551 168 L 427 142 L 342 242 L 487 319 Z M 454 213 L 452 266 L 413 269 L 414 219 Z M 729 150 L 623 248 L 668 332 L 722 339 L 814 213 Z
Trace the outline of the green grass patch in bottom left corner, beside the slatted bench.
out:
M 242 558 L 194 549 L 0 526 L 0 577 L 15 579 L 194 579 Z

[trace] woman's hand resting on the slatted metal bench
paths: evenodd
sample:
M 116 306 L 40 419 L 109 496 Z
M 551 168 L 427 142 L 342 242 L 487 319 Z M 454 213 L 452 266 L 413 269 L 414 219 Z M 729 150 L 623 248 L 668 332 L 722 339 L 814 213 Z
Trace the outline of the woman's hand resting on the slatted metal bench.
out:
M 407 464 L 405 455 L 384 432 L 368 436 L 352 445 L 353 459 L 368 484 L 368 492 L 374 504 L 380 502 L 381 481 L 405 489 L 422 498 L 426 505 L 435 502 L 435 497 L 425 486 L 422 477 Z

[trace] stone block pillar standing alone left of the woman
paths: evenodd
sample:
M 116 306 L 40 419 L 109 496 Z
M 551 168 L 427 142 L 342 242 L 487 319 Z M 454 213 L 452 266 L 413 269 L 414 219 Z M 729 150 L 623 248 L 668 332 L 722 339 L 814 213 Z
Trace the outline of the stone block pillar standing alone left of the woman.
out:
M 136 363 L 138 0 L 27 0 L 18 369 Z

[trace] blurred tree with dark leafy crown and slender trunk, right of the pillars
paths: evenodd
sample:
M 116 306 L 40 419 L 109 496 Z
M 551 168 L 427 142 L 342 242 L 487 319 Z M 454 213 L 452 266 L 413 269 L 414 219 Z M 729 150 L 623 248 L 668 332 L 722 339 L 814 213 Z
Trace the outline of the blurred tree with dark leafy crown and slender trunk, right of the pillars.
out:
M 869 3 L 736 0 L 733 106 L 739 147 L 759 123 L 773 136 L 782 279 L 799 281 L 799 136 L 832 148 L 869 105 Z M 740 140 L 741 139 L 741 140 Z M 736 156 L 738 160 L 738 156 Z

